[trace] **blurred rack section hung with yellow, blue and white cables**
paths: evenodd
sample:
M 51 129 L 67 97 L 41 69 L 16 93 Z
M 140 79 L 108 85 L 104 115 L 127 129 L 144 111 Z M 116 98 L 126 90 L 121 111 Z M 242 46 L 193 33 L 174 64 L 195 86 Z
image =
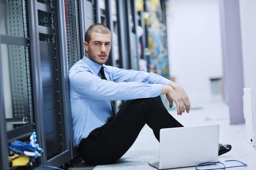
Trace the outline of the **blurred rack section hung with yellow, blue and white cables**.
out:
M 169 78 L 166 1 L 155 2 L 144 0 L 141 4 L 143 8 L 137 12 L 138 25 L 144 30 L 144 34 L 138 40 L 143 47 L 139 58 L 146 60 L 148 71 Z M 143 18 L 144 13 L 151 17 Z

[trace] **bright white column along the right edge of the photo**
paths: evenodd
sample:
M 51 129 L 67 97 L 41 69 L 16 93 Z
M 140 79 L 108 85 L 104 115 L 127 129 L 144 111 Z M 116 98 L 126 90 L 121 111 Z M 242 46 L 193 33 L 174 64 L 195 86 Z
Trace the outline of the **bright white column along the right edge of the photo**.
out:
M 244 87 L 250 89 L 251 96 L 251 99 L 247 98 L 245 93 L 247 140 L 252 138 L 252 143 L 255 144 L 256 136 L 253 135 L 256 132 L 256 0 L 239 0 L 239 5 Z

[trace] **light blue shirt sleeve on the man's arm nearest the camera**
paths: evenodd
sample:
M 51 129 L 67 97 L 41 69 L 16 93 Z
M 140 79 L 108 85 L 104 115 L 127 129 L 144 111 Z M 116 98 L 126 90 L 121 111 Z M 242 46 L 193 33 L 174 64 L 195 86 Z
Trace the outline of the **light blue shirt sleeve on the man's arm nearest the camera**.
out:
M 102 80 L 88 71 L 80 71 L 69 76 L 71 98 L 88 97 L 97 100 L 132 100 L 157 97 L 161 93 L 161 84 L 145 82 L 113 82 Z

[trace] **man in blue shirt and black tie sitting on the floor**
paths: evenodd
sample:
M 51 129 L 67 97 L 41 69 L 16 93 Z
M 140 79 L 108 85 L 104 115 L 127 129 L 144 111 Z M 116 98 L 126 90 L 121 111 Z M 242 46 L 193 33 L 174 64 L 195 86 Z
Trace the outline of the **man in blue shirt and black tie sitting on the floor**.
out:
M 91 25 L 83 43 L 85 56 L 69 71 L 74 144 L 88 164 L 117 161 L 147 123 L 159 141 L 162 128 L 182 127 L 164 107 L 166 94 L 177 114 L 189 113 L 190 101 L 181 86 L 155 73 L 104 65 L 111 49 L 111 33 Z M 117 115 L 112 101 L 128 100 Z M 229 151 L 231 148 L 221 146 Z

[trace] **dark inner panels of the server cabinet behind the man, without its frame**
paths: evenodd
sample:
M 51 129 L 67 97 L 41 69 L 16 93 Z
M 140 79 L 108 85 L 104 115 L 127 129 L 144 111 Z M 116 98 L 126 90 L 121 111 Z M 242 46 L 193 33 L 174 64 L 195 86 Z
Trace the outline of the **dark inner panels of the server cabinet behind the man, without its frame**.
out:
M 46 2 L 45 2 L 46 3 Z M 52 7 L 50 6 L 52 5 Z M 55 4 L 38 3 L 39 51 L 43 91 L 43 124 L 47 159 L 62 151 L 61 76 L 59 76 L 58 20 Z

